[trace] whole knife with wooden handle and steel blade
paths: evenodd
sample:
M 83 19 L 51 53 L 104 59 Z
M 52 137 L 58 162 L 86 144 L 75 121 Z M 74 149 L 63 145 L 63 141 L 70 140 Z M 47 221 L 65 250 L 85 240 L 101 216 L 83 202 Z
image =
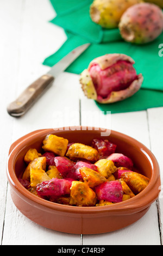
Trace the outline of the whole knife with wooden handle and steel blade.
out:
M 55 64 L 47 74 L 42 75 L 35 82 L 30 84 L 24 92 L 18 98 L 11 102 L 7 107 L 8 113 L 12 117 L 21 117 L 25 114 L 32 105 L 39 99 L 39 97 L 52 86 L 54 79 L 74 62 L 77 57 L 82 54 L 90 44 L 84 44 L 78 46 L 73 51 L 68 53 L 64 58 L 62 58 L 57 64 Z

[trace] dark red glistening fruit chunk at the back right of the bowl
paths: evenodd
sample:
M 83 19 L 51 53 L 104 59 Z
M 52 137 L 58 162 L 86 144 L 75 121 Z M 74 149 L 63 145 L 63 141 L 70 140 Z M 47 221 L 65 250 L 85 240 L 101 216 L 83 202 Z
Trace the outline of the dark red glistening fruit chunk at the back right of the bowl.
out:
M 117 145 L 109 142 L 108 139 L 93 139 L 92 147 L 98 150 L 100 158 L 103 159 L 115 153 Z

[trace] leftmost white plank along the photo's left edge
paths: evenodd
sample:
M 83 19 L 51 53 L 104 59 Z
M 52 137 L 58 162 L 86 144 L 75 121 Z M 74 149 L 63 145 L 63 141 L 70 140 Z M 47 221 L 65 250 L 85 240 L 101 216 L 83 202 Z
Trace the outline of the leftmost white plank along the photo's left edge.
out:
M 0 161 L 0 239 L 2 241 L 3 225 L 5 216 L 5 204 L 7 195 L 6 163 L 8 150 L 11 144 L 13 119 L 7 113 L 7 104 L 15 95 L 15 87 L 18 74 L 18 45 L 20 41 L 20 17 L 22 12 L 22 1 L 0 2 L 0 69 L 1 69 L 1 161 Z

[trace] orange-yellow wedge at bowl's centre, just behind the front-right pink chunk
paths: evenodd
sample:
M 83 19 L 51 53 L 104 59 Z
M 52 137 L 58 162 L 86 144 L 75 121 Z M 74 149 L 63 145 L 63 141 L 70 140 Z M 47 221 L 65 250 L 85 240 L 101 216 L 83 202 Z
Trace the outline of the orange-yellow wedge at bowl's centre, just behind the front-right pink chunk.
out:
M 96 172 L 96 170 L 92 170 L 87 167 L 82 167 L 79 170 L 84 182 L 91 188 L 96 187 L 107 181 L 106 178 Z

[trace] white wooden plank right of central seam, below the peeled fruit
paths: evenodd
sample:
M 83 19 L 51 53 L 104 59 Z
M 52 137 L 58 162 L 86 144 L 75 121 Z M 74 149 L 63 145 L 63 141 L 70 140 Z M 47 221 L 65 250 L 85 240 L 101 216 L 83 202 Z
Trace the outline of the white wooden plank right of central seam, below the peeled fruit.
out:
M 95 102 L 85 99 L 82 92 L 80 98 L 81 123 L 83 124 L 85 118 L 82 113 L 86 109 L 97 112 L 97 106 Z M 99 116 L 97 114 L 96 124 L 105 128 L 106 126 L 104 125 L 107 124 L 107 121 L 101 121 Z M 145 144 L 148 148 L 150 147 L 146 111 L 112 114 L 109 119 L 110 126 L 108 125 L 107 128 L 125 133 Z M 139 221 L 124 229 L 100 235 L 83 235 L 83 245 L 160 245 L 156 203 L 152 204 L 147 214 Z

